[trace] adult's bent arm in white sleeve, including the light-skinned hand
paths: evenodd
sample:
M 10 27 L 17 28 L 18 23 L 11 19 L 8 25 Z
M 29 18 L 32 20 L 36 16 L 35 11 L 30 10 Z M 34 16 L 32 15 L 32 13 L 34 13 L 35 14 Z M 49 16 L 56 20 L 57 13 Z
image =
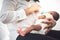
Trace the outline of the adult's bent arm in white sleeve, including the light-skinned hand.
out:
M 16 22 L 18 20 L 23 20 L 26 18 L 26 15 L 29 15 L 32 12 L 39 11 L 39 5 L 32 4 L 30 8 L 27 9 L 18 9 L 17 5 L 19 3 L 17 0 L 4 0 L 3 6 L 0 15 L 0 21 L 3 23 Z

